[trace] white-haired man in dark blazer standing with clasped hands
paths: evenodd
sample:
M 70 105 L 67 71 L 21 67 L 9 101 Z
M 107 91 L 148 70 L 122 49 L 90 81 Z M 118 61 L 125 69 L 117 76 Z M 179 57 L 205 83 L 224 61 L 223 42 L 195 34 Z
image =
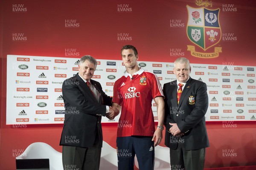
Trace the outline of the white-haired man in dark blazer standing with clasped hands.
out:
M 207 86 L 192 79 L 186 58 L 178 58 L 173 69 L 177 80 L 164 84 L 165 145 L 170 148 L 171 169 L 203 170 L 209 147 L 205 126 Z

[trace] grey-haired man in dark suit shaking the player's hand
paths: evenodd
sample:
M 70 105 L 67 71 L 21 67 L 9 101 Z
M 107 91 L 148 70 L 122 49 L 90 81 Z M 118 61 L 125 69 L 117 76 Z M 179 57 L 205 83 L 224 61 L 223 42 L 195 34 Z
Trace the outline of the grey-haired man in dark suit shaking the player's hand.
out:
M 97 62 L 85 55 L 79 73 L 63 82 L 65 121 L 61 134 L 62 162 L 65 169 L 99 170 L 102 147 L 102 116 L 108 116 L 112 98 L 92 80 Z

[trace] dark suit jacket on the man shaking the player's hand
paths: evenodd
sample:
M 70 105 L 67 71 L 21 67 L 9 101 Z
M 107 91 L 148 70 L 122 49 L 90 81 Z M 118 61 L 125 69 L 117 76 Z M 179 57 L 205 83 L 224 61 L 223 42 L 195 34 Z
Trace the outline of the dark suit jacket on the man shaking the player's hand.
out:
M 90 81 L 100 92 L 99 102 L 78 73 L 62 84 L 65 121 L 60 145 L 91 147 L 98 134 L 102 146 L 101 118 L 106 115 L 105 105 L 112 105 L 112 98 L 102 91 L 99 82 Z

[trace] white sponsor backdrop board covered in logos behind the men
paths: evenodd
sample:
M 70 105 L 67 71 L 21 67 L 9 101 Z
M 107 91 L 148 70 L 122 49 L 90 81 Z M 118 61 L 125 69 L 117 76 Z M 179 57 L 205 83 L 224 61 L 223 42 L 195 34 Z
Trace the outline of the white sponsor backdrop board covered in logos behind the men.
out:
M 107 95 L 113 96 L 113 84 L 123 75 L 125 66 L 117 60 L 97 59 L 97 62 L 93 79 L 102 84 Z M 8 55 L 6 124 L 62 124 L 65 113 L 62 83 L 76 75 L 78 63 L 79 58 Z M 176 79 L 173 63 L 138 63 L 156 74 L 162 86 Z M 207 84 L 207 121 L 256 120 L 256 66 L 192 63 L 191 67 L 191 77 Z M 152 109 L 157 121 L 154 101 Z M 112 121 L 103 117 L 102 122 L 118 119 L 119 116 Z

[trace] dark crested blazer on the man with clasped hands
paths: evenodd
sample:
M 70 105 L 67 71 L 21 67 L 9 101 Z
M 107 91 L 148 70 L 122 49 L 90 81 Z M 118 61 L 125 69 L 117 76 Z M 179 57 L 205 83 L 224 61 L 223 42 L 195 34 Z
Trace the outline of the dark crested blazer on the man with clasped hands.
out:
M 207 86 L 204 82 L 189 78 L 177 105 L 177 81 L 164 84 L 165 96 L 165 145 L 176 149 L 182 143 L 186 150 L 209 147 L 205 126 L 205 113 L 208 108 Z M 177 123 L 182 137 L 174 137 L 169 131 L 170 123 Z

